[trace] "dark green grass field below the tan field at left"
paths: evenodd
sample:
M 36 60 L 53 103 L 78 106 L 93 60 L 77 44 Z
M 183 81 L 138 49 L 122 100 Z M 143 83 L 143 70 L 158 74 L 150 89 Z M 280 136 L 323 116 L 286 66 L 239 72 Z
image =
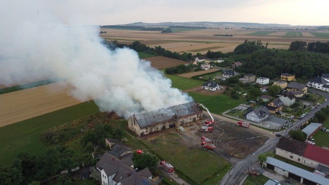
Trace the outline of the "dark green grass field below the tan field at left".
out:
M 20 152 L 42 154 L 47 149 L 40 139 L 42 132 L 97 112 L 96 104 L 89 101 L 0 127 L 0 164 L 10 164 Z

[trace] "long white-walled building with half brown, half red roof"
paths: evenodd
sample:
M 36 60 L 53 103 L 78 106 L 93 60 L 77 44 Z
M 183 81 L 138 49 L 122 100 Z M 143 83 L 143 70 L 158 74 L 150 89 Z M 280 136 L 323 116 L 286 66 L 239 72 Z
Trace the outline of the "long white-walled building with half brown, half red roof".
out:
M 318 165 L 329 167 L 329 150 L 287 137 L 280 138 L 276 147 L 276 155 L 307 167 L 316 168 Z

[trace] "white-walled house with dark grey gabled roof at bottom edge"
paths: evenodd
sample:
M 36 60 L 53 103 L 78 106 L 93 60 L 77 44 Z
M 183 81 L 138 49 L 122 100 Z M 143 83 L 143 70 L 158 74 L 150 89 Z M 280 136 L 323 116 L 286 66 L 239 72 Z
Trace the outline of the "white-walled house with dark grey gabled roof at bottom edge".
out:
M 105 153 L 96 164 L 103 185 L 155 184 L 148 168 L 139 172 L 134 170 L 131 158 L 118 159 Z

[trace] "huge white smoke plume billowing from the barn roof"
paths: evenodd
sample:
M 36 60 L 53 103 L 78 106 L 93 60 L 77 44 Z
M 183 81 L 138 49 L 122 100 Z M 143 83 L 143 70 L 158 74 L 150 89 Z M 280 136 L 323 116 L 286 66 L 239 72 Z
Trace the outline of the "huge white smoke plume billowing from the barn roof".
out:
M 63 18 L 50 7 L 44 1 L 1 7 L 0 85 L 55 75 L 75 87 L 71 96 L 95 99 L 100 110 L 125 118 L 192 100 L 135 51 L 108 50 L 98 26 L 78 26 L 83 21 L 76 15 Z M 25 72 L 31 70 L 33 75 Z

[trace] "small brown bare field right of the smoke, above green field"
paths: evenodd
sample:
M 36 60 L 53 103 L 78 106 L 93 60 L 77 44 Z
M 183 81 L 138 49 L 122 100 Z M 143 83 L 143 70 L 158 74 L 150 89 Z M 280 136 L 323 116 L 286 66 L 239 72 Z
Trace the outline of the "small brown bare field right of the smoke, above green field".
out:
M 148 57 L 142 60 L 151 61 L 151 66 L 157 69 L 165 69 L 169 67 L 175 67 L 179 64 L 188 64 L 188 62 L 184 62 L 177 59 L 171 59 L 167 57 Z

